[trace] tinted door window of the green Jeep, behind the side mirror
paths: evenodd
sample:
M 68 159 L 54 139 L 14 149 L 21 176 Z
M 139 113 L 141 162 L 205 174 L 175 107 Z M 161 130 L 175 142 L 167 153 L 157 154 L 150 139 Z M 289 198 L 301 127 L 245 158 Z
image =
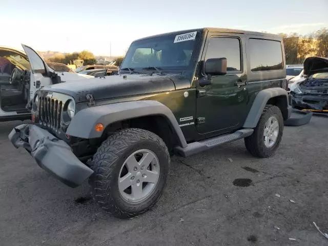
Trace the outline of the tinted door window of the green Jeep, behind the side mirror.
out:
M 211 37 L 205 60 L 227 58 L 227 72 L 241 71 L 240 40 L 236 37 Z

